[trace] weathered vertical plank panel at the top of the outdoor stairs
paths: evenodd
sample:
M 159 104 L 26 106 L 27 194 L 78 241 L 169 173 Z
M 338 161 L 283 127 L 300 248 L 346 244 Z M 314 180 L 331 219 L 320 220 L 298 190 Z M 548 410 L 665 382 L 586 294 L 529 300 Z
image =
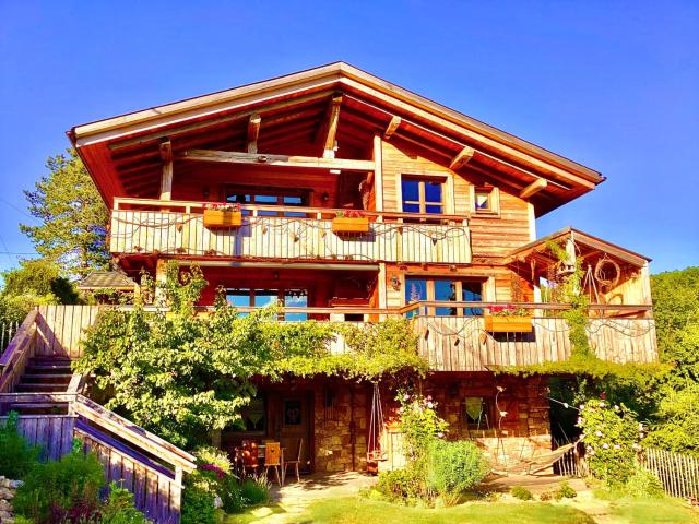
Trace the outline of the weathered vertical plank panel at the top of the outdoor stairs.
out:
M 83 330 L 97 318 L 99 306 L 39 306 L 34 354 L 78 358 Z

